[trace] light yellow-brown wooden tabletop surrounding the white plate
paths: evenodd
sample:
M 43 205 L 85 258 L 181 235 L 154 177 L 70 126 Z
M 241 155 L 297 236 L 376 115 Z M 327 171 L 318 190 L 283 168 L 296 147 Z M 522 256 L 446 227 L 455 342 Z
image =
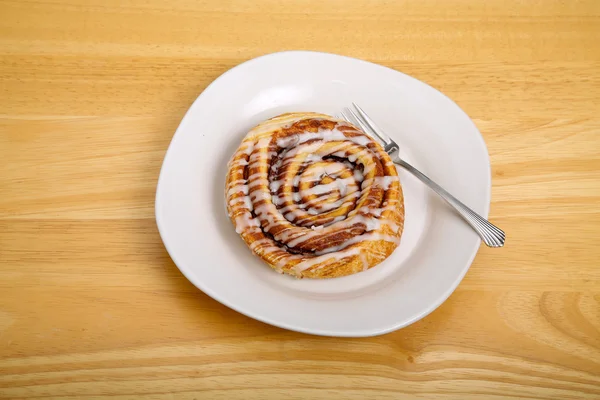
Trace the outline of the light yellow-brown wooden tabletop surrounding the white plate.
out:
M 408 328 L 271 327 L 162 246 L 181 117 L 284 49 L 408 73 L 485 136 L 507 245 Z M 0 158 L 0 398 L 600 398 L 599 1 L 0 0 Z

